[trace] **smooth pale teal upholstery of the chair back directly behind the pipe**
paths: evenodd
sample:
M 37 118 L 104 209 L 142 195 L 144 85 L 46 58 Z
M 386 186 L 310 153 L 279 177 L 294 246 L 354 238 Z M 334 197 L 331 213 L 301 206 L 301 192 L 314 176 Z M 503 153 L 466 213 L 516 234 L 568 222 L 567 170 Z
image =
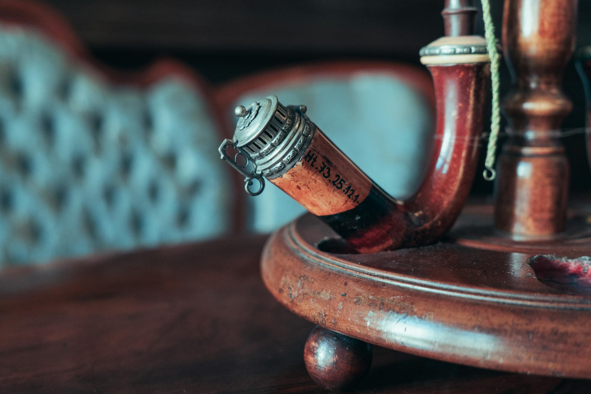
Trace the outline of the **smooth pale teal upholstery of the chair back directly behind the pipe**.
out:
M 407 197 L 420 185 L 433 110 L 407 81 L 376 71 L 312 76 L 247 92 L 233 105 L 248 105 L 270 94 L 284 105 L 305 104 L 310 119 L 392 196 Z M 260 196 L 248 197 L 248 206 L 248 223 L 256 232 L 277 229 L 304 212 L 271 184 Z

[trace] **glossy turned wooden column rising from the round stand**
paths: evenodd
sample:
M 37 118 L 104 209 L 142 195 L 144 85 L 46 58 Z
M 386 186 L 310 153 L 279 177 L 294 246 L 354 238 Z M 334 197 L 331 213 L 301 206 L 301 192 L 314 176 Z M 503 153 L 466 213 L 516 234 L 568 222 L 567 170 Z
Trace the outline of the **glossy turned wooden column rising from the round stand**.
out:
M 499 158 L 495 226 L 518 237 L 564 230 L 569 163 L 559 138 L 571 102 L 561 92 L 573 54 L 577 0 L 506 0 L 505 59 L 512 89 L 509 139 Z

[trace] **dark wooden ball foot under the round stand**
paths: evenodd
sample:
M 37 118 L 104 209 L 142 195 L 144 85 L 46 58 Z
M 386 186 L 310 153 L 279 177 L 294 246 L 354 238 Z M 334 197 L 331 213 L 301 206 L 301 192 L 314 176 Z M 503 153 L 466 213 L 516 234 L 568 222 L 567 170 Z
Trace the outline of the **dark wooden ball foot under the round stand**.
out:
M 355 386 L 369 372 L 372 346 L 319 326 L 311 331 L 304 347 L 310 377 L 328 390 Z

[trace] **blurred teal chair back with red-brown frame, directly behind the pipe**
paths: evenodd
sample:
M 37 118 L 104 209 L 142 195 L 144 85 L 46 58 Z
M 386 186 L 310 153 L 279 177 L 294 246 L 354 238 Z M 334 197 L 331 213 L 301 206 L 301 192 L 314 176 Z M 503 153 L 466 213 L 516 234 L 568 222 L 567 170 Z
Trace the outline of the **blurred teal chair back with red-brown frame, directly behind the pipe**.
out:
M 420 185 L 434 120 L 426 70 L 371 61 L 297 66 L 230 83 L 219 97 L 232 116 L 236 105 L 271 94 L 285 105 L 305 104 L 310 119 L 392 196 L 407 197 Z M 246 223 L 269 232 L 303 212 L 293 198 L 269 186 L 248 197 Z

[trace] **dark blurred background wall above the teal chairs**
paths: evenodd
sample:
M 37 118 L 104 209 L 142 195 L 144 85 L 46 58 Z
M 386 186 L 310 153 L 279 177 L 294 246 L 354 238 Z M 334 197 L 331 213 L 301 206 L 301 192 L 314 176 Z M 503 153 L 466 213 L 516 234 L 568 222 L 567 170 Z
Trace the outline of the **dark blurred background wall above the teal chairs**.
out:
M 477 1 L 479 3 L 479 1 Z M 418 63 L 418 50 L 440 37 L 443 0 L 46 0 L 100 60 L 133 69 L 168 55 L 220 84 L 307 61 L 378 59 Z M 500 37 L 502 0 L 491 0 Z M 591 2 L 579 1 L 578 45 L 591 45 Z M 479 18 L 481 16 L 479 15 Z M 478 30 L 482 34 L 479 19 Z M 502 69 L 502 92 L 509 84 Z M 573 63 L 564 89 L 573 113 L 564 128 L 584 126 L 584 95 Z M 591 190 L 583 135 L 564 139 L 571 190 Z M 484 155 L 482 155 L 482 158 Z M 482 163 L 481 163 L 482 167 Z M 482 171 L 479 171 L 479 174 Z M 491 193 L 477 176 L 474 193 Z

